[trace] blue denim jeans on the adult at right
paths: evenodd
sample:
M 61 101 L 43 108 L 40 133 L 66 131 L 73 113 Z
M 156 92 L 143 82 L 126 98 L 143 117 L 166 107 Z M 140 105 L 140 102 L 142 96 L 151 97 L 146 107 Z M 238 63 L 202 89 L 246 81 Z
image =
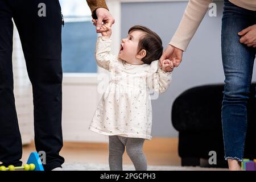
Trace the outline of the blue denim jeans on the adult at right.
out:
M 224 1 L 221 49 L 225 73 L 222 129 L 225 159 L 243 160 L 247 129 L 247 100 L 256 48 L 239 42 L 238 32 L 256 24 L 256 11 Z M 255 96 L 256 97 L 256 96 Z

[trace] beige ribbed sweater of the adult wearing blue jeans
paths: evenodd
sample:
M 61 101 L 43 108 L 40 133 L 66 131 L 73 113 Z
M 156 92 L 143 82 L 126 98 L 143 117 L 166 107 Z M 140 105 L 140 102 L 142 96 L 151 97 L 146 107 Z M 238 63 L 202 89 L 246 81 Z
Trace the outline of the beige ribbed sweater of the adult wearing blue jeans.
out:
M 256 11 L 256 0 L 229 1 L 242 8 Z M 180 25 L 169 44 L 185 51 L 205 13 L 207 13 L 209 3 L 211 2 L 212 0 L 189 0 Z

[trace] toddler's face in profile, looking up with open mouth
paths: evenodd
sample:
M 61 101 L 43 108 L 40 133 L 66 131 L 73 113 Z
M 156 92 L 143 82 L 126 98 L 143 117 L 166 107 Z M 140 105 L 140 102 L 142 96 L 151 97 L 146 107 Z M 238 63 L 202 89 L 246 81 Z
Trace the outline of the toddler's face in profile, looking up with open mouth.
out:
M 138 44 L 143 35 L 144 32 L 134 30 L 130 32 L 127 38 L 122 39 L 119 58 L 130 64 L 143 64 L 143 61 L 138 56 Z

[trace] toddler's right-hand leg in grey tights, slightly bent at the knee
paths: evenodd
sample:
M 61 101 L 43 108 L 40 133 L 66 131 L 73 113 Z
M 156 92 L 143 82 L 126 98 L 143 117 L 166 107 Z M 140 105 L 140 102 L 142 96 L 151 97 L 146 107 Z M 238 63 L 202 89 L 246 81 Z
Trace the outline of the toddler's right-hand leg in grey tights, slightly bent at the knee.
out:
M 126 152 L 134 164 L 136 171 L 147 170 L 147 159 L 143 152 L 143 138 L 127 138 Z

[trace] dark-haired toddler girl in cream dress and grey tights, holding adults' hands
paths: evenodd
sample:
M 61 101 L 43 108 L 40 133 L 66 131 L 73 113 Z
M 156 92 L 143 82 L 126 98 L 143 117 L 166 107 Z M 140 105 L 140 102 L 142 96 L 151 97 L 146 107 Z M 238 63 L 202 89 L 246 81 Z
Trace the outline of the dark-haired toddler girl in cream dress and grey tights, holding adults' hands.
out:
M 151 139 L 152 108 L 150 90 L 163 93 L 171 82 L 173 64 L 162 56 L 162 40 L 143 26 L 134 26 L 122 39 L 118 56 L 110 54 L 111 28 L 102 26 L 96 43 L 97 64 L 110 72 L 109 86 L 94 113 L 89 130 L 109 136 L 110 170 L 122 170 L 125 151 L 135 169 L 145 171 L 145 139 Z M 154 94 L 157 96 L 157 94 Z

